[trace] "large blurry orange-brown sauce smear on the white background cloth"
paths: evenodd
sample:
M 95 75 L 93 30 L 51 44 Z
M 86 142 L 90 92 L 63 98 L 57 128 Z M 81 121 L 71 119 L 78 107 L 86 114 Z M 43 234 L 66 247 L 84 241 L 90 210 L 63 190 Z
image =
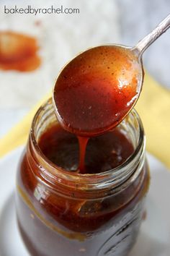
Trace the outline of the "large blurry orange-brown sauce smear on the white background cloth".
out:
M 28 72 L 40 66 L 36 38 L 12 31 L 0 32 L 0 69 Z

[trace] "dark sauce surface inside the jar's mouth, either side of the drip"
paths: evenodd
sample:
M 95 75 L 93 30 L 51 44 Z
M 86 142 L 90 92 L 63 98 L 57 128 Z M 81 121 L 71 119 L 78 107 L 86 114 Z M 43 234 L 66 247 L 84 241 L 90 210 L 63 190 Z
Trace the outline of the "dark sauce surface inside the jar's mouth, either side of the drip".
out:
M 77 171 L 79 168 L 79 141 L 76 135 L 59 124 L 50 127 L 40 137 L 42 153 L 57 166 Z M 133 145 L 119 129 L 99 137 L 91 137 L 86 145 L 84 168 L 86 174 L 97 174 L 120 166 L 133 153 Z

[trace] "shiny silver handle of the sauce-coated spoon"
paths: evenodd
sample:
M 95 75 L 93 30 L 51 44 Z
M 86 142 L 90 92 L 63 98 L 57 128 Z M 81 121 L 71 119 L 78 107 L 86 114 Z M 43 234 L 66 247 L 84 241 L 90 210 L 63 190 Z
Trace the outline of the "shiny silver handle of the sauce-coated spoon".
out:
M 160 37 L 163 33 L 166 32 L 170 27 L 170 14 L 161 22 L 158 24 L 158 26 L 151 31 L 148 35 L 146 35 L 145 38 L 140 40 L 138 44 L 133 48 L 134 50 L 137 50 L 139 55 L 143 54 L 143 51 L 146 51 L 148 46 L 151 45 L 157 38 Z

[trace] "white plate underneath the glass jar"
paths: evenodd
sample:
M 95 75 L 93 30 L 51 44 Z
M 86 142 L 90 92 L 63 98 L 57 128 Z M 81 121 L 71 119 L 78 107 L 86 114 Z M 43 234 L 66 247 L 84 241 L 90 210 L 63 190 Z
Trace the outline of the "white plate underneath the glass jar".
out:
M 0 256 L 29 256 L 17 229 L 14 187 L 17 163 L 22 148 L 0 161 Z M 147 200 L 147 217 L 140 229 L 138 242 L 130 256 L 170 255 L 170 171 L 152 155 L 151 187 Z

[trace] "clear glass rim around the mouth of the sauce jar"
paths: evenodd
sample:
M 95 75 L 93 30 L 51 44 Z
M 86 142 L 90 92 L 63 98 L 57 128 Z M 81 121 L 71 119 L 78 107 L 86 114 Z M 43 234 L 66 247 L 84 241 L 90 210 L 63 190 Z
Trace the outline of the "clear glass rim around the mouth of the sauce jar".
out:
M 41 167 L 43 169 L 42 175 L 45 177 L 45 179 L 50 179 L 50 182 L 63 182 L 64 180 L 68 181 L 69 186 L 73 183 L 76 184 L 76 188 L 81 187 L 83 189 L 84 186 L 89 186 L 91 189 L 93 187 L 107 187 L 110 181 L 112 180 L 112 186 L 117 187 L 117 181 L 119 180 L 119 184 L 122 184 L 122 182 L 125 182 L 125 178 L 128 179 L 131 175 L 128 173 L 127 169 L 128 166 L 133 166 L 134 163 L 137 161 L 137 158 L 144 155 L 145 151 L 145 135 L 143 131 L 143 124 L 141 122 L 140 116 L 138 115 L 138 112 L 135 111 L 133 108 L 132 111 L 128 114 L 128 116 L 135 117 L 135 120 L 138 122 L 139 127 L 139 137 L 138 137 L 138 144 L 135 147 L 135 150 L 130 155 L 129 158 L 125 160 L 120 166 L 117 166 L 115 168 L 112 168 L 108 171 L 100 172 L 97 174 L 78 174 L 75 172 L 66 171 L 64 168 L 61 168 L 60 166 L 55 165 L 55 163 L 51 162 L 40 150 L 40 147 L 38 145 L 38 142 L 35 137 L 35 127 L 37 121 L 40 119 L 40 112 L 45 111 L 45 108 L 47 106 L 50 106 L 52 104 L 52 98 L 48 99 L 47 102 L 42 104 L 40 108 L 37 110 L 37 113 L 35 114 L 33 120 L 32 120 L 32 127 L 30 132 L 30 143 L 34 150 L 34 153 L 36 155 L 36 158 L 41 163 Z M 127 118 L 127 117 L 126 117 Z M 56 118 L 57 120 L 57 118 Z M 139 162 L 139 161 L 138 161 Z M 45 168 L 43 167 L 45 166 Z M 137 166 L 137 165 L 136 165 Z M 73 186 L 75 187 L 75 185 Z

